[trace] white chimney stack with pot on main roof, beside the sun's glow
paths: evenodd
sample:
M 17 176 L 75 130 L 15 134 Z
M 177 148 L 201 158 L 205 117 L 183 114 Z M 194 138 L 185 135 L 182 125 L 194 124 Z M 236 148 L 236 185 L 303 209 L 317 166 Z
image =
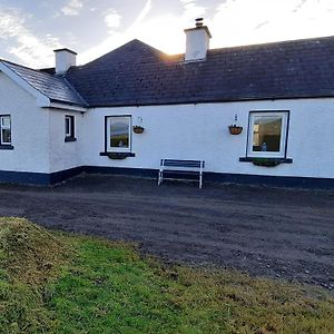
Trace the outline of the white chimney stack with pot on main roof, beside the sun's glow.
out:
M 186 61 L 197 61 L 206 59 L 209 49 L 212 35 L 206 26 L 203 26 L 203 18 L 196 19 L 196 28 L 186 29 Z

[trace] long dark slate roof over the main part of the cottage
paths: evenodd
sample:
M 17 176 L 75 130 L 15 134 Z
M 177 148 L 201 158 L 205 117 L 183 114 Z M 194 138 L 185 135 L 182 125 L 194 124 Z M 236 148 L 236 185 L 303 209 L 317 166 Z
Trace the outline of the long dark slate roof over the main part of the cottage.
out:
M 183 59 L 132 40 L 66 77 L 91 107 L 334 97 L 334 37 Z

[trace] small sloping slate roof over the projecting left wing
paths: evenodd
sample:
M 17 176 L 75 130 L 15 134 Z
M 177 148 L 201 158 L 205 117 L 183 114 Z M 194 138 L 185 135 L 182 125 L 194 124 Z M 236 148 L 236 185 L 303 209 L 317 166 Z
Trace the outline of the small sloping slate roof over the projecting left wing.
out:
M 0 61 L 51 101 L 86 106 L 84 99 L 63 77 L 52 76 L 6 60 Z

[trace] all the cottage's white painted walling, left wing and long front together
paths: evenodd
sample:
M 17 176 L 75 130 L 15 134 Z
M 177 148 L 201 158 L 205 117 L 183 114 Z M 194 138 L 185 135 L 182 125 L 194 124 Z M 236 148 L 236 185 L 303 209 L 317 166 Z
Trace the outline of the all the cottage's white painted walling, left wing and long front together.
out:
M 245 157 L 250 110 L 289 110 L 287 157 L 275 168 L 239 163 Z M 158 168 L 161 158 L 204 159 L 206 171 L 334 178 L 334 99 L 96 108 L 85 115 L 37 107 L 36 98 L 0 72 L 0 115 L 10 114 L 13 150 L 0 149 L 0 170 L 53 173 L 79 166 Z M 244 127 L 232 136 L 238 115 Z M 76 117 L 75 143 L 65 143 L 65 115 Z M 136 157 L 111 160 L 105 150 L 105 116 L 143 119 L 131 132 Z

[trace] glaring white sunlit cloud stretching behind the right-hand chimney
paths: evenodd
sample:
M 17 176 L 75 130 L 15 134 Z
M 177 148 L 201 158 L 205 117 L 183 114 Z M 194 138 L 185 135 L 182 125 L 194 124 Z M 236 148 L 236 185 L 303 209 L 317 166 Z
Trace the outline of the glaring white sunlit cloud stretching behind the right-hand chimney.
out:
M 168 53 L 184 52 L 183 30 L 194 27 L 198 17 L 210 29 L 212 48 L 334 35 L 333 0 L 220 0 L 216 8 L 196 0 L 178 1 L 181 12 L 155 17 L 148 16 L 154 2 L 146 1 L 127 30 L 79 55 L 79 61 L 92 60 L 134 38 Z

